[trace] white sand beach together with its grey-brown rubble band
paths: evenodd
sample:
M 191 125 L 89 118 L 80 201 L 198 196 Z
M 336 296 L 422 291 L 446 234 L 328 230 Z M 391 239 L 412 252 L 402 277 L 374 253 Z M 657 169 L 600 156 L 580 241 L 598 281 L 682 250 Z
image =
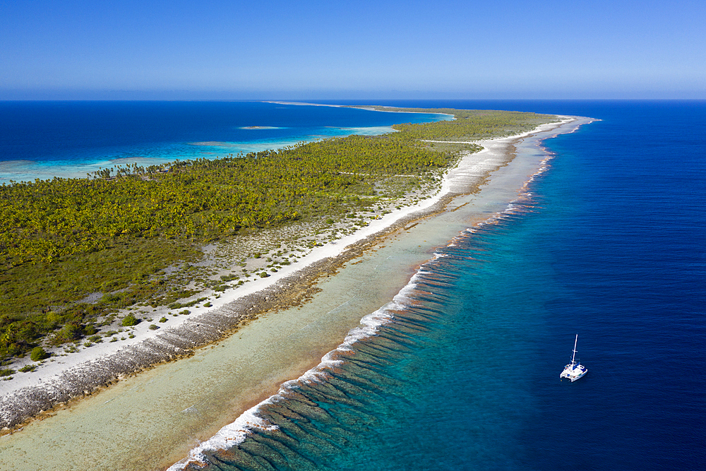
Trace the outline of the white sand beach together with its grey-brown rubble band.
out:
M 568 117 L 562 118 L 562 124 L 571 121 Z M 489 165 L 488 161 L 493 160 L 489 157 L 497 157 L 498 153 L 505 152 L 513 142 L 524 136 L 548 131 L 559 125 L 544 125 L 520 136 L 479 142 L 484 150 L 465 156 L 457 167 L 450 169 L 443 179 L 441 190 L 433 198 L 371 221 L 369 226 L 339 239 L 335 244 L 328 243 L 313 249 L 296 266 L 283 267 L 269 278 L 255 280 L 239 290 L 211 299 L 213 306 L 195 310 L 188 317 L 175 318 L 178 322 L 172 323 L 169 328 L 150 331 L 144 323 L 141 328 L 145 330 L 145 335 L 140 333 L 133 345 L 95 345 L 73 354 L 73 357 L 64 357 L 70 358 L 71 362 L 65 360 L 44 365 L 41 375 L 27 375 L 23 383 L 13 385 L 11 383 L 14 381 L 5 382 L 0 385 L 0 423 L 4 427 L 17 427 L 28 417 L 67 403 L 72 398 L 101 390 L 121 377 L 178 357 L 191 356 L 196 348 L 220 340 L 243 321 L 256 318 L 261 313 L 296 305 L 316 292 L 317 287 L 313 283 L 317 278 L 335 273 L 342 263 L 362 254 L 385 234 L 443 209 L 455 194 L 479 184 L 493 169 L 491 166 L 497 165 Z

